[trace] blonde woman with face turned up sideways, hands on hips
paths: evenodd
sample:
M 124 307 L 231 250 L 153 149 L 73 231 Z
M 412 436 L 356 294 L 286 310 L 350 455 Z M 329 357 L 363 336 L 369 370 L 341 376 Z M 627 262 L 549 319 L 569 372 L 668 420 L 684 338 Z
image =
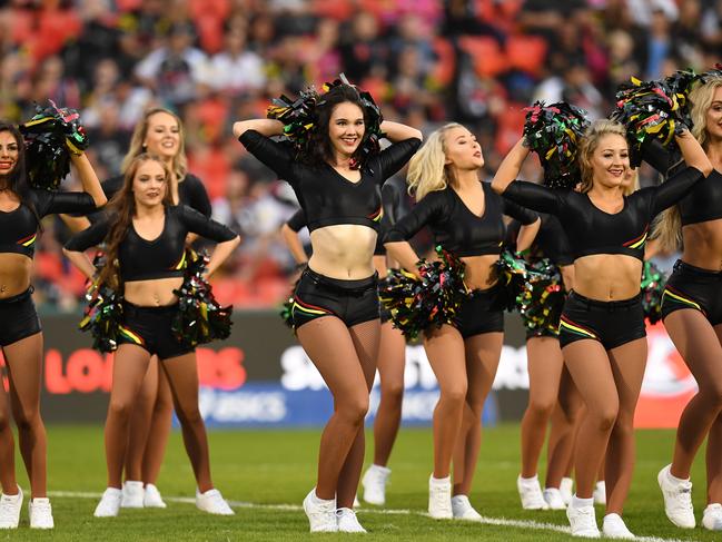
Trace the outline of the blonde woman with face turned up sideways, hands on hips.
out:
M 525 225 L 520 249 L 528 248 L 538 229 L 536 214 L 504 201 L 487 183 L 479 181 L 483 166 L 481 146 L 465 127 L 449 124 L 432 134 L 409 164 L 408 183 L 416 206 L 390 228 L 385 243 L 390 257 L 408 272 L 418 273 L 418 257 L 407 239 L 428 226 L 434 242 L 465 263 L 465 282 L 472 290 L 454 325 L 429 329 L 424 336 L 441 388 L 434 410 L 434 472 L 428 497 L 428 512 L 435 519 L 481 519 L 468 494 L 479 450 L 482 408 L 494 382 L 504 335 L 500 286 L 493 270 L 506 234 L 503 215 Z

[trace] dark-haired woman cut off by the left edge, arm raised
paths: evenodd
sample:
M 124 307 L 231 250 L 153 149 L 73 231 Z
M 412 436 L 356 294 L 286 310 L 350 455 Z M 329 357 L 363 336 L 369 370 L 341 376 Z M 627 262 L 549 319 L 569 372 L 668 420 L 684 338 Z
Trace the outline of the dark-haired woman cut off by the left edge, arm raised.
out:
M 0 347 L 9 367 L 10 390 L 0 386 L 0 528 L 14 529 L 22 507 L 16 483 L 10 411 L 32 491 L 30 526 L 53 526 L 46 493 L 46 430 L 40 417 L 43 342 L 30 294 L 34 243 L 43 216 L 89 211 L 106 203 L 85 155 L 70 154 L 83 193 L 36 190 L 26 177 L 26 146 L 14 125 L 0 121 Z M 10 405 L 10 408 L 8 407 Z

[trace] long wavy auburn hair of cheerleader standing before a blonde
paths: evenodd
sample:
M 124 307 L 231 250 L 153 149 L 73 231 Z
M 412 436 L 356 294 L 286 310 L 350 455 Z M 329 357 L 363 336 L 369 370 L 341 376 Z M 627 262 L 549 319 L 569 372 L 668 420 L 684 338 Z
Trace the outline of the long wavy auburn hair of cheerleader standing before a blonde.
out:
M 107 284 L 115 289 L 121 285 L 120 262 L 118 249 L 120 243 L 126 238 L 132 226 L 132 217 L 136 216 L 136 197 L 132 191 L 132 183 L 140 166 L 147 161 L 157 161 L 166 174 L 166 194 L 162 198 L 165 207 L 172 206 L 172 197 L 169 189 L 170 169 L 166 162 L 155 155 L 142 152 L 133 158 L 126 168 L 122 188 L 116 193 L 107 205 L 107 213 L 111 220 L 110 229 L 106 235 L 106 265 L 98 277 L 99 284 Z

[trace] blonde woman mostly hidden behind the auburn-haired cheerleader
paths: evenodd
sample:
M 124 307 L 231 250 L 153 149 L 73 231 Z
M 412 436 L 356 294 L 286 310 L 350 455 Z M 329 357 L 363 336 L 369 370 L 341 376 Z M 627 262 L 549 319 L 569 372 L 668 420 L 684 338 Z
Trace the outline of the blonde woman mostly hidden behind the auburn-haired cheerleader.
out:
M 136 125 L 130 147 L 123 158 L 125 171 L 136 157 L 149 152 L 160 157 L 172 171 L 170 193 L 174 204 L 184 204 L 210 217 L 211 207 L 202 181 L 188 171 L 185 149 L 184 126 L 172 111 L 155 107 L 146 111 Z M 118 175 L 102 183 L 108 199 L 123 186 L 125 176 Z M 98 215 L 93 217 L 97 219 Z M 76 218 L 70 223 L 75 230 L 90 226 L 87 218 Z M 195 238 L 189 235 L 188 242 Z M 140 395 L 136 402 L 130 422 L 130 441 L 126 460 L 126 482 L 123 502 L 129 507 L 166 507 L 156 481 L 170 435 L 172 422 L 172 396 L 168 380 L 154 356 L 146 373 Z M 144 487 L 145 485 L 145 487 Z

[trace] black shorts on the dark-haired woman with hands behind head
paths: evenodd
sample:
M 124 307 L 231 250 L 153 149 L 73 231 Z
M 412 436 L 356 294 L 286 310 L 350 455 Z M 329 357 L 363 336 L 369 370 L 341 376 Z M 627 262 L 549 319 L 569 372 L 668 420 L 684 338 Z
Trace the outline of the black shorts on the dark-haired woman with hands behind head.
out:
M 299 328 L 324 316 L 336 316 L 347 327 L 378 319 L 377 283 L 377 275 L 358 280 L 340 280 L 306 267 L 294 292 L 294 327 Z

